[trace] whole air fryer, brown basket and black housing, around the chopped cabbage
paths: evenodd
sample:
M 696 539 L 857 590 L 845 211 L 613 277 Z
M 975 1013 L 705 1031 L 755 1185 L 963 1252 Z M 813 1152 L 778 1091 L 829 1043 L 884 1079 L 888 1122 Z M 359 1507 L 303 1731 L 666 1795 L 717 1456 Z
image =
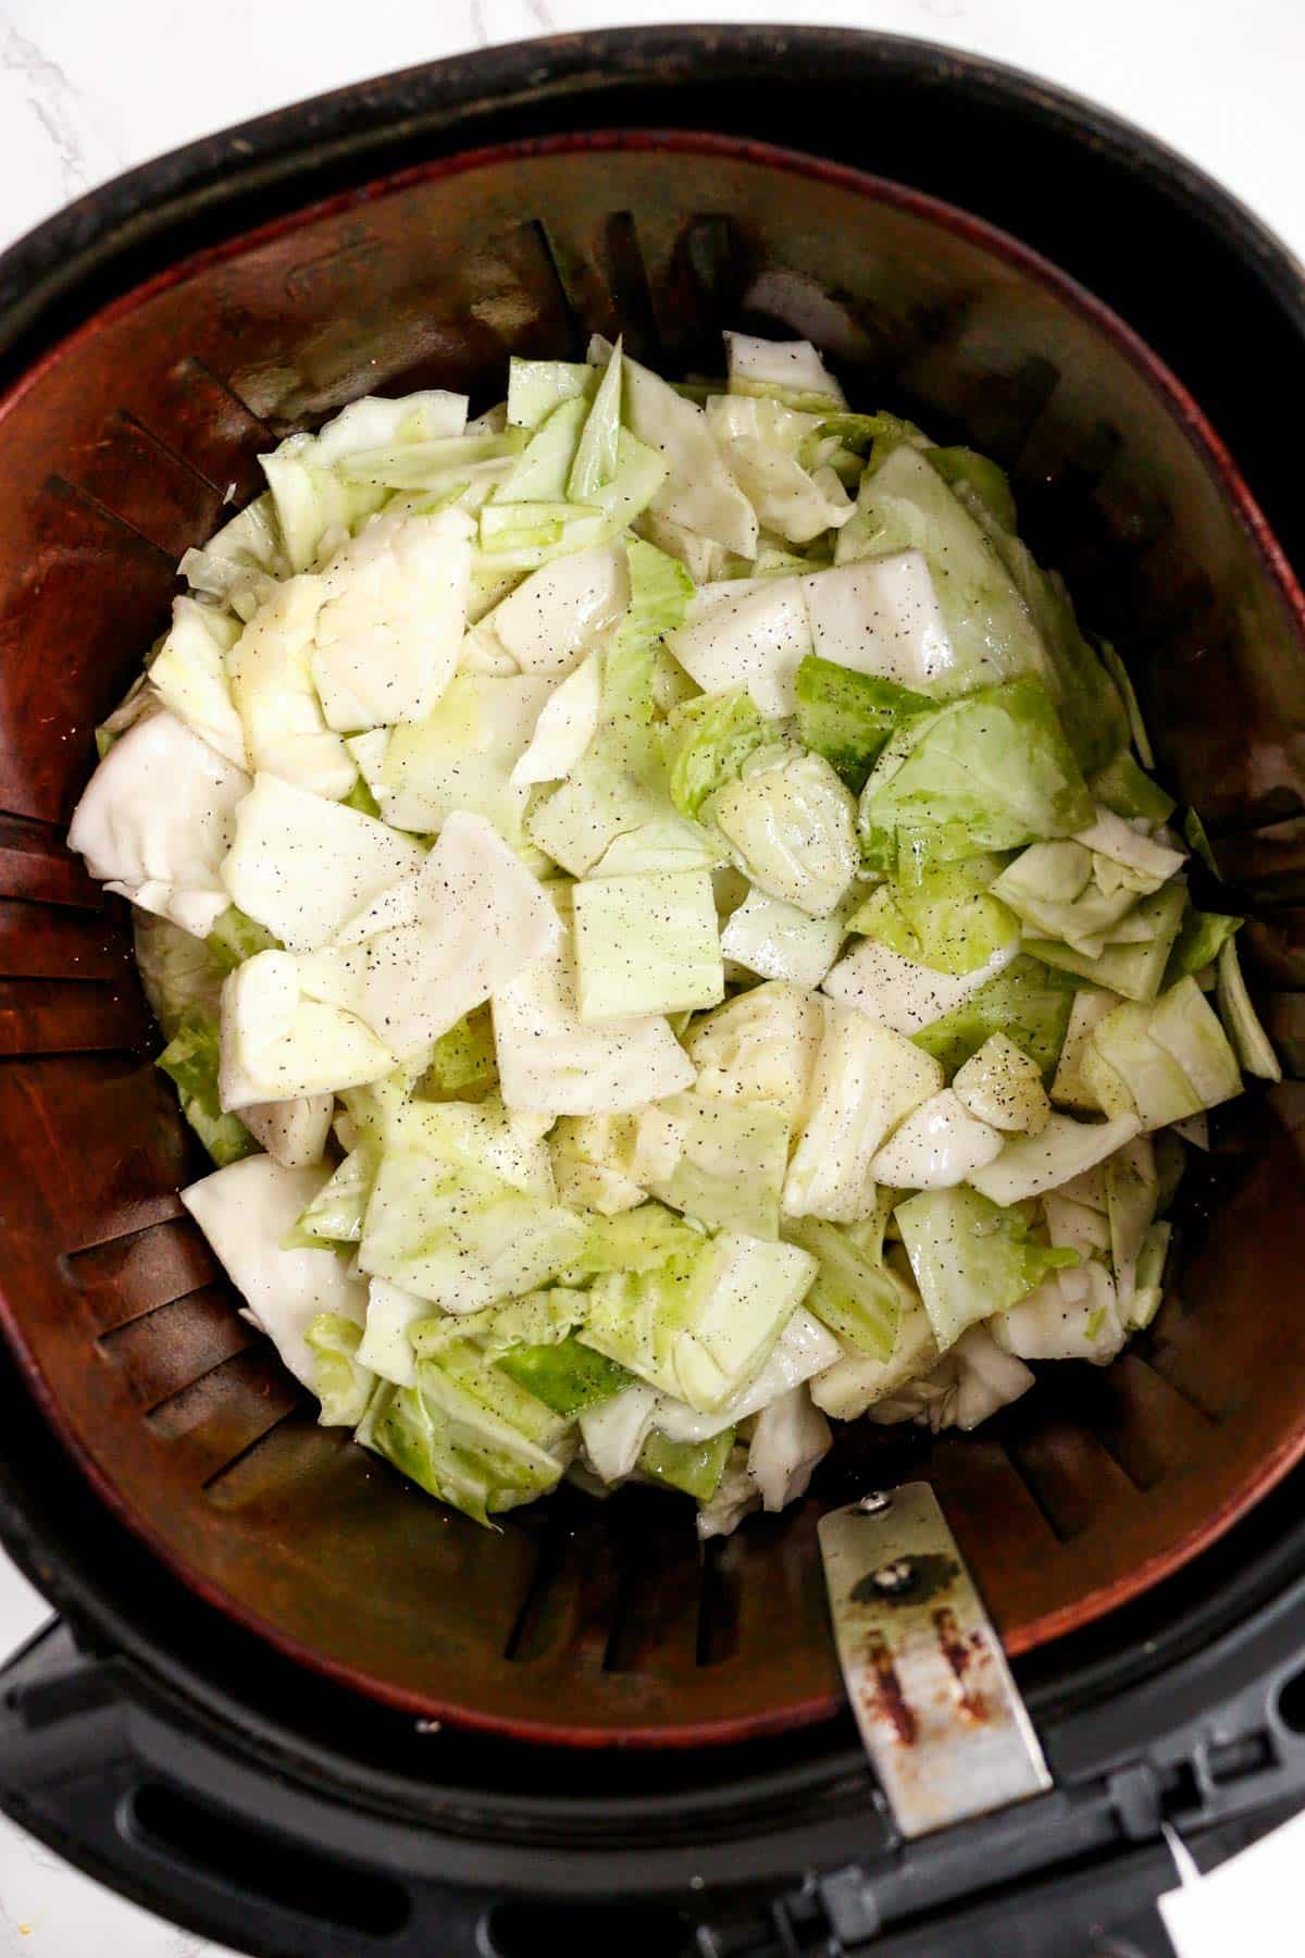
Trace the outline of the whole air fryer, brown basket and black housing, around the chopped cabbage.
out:
M 794 1512 L 706 1549 L 640 1490 L 487 1533 L 317 1427 L 237 1318 L 176 1194 L 203 1161 L 129 922 L 63 838 L 180 552 L 280 437 L 370 392 L 487 405 L 511 354 L 591 331 L 671 374 L 718 366 L 722 327 L 806 335 L 853 403 L 1012 472 L 1217 840 L 1293 1073 L 1305 603 L 1260 511 L 1305 544 L 1295 268 L 1068 98 L 788 29 L 368 84 L 151 164 L 0 268 L 2 1521 L 67 1621 L 10 1668 L 6 1805 L 295 1958 L 1158 1936 L 1160 1823 L 1213 1852 L 1305 1780 L 1299 1476 L 1270 1494 L 1305 1451 L 1299 1089 L 1217 1112 L 1166 1304 L 1109 1369 L 1045 1367 L 972 1437 L 861 1423 Z M 908 1476 L 1023 1658 L 1057 1788 L 904 1848 L 816 1521 Z

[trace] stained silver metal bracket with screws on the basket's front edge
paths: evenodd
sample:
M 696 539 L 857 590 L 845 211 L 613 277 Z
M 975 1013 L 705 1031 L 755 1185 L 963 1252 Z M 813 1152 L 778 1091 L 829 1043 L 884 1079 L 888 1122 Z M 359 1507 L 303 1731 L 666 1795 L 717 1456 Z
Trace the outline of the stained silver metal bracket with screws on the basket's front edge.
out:
M 1045 1794 L 1037 1733 L 929 1484 L 832 1510 L 820 1551 L 847 1698 L 902 1835 Z

